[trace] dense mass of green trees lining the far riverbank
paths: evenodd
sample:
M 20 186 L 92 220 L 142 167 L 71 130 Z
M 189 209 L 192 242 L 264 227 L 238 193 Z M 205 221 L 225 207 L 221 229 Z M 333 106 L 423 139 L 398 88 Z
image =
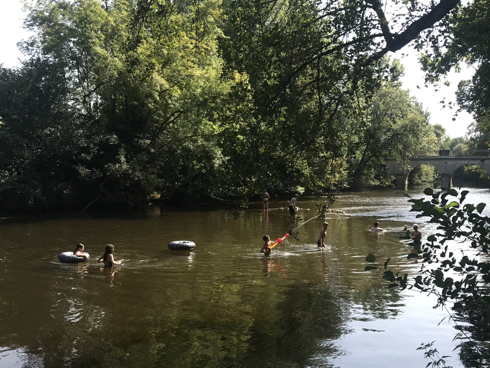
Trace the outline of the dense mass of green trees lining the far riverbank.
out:
M 0 208 L 391 185 L 386 156 L 441 142 L 386 54 L 458 11 L 392 6 L 37 0 L 0 67 Z

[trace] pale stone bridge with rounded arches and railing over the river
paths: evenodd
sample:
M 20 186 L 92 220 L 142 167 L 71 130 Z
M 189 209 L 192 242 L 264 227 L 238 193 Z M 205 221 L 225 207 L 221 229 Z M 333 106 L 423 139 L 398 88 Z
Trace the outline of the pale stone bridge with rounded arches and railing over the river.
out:
M 441 174 L 441 188 L 449 189 L 456 169 L 466 164 L 479 165 L 490 175 L 490 150 L 439 150 L 416 151 L 408 158 L 408 166 L 396 158 L 387 158 L 386 165 L 393 170 L 396 189 L 406 189 L 408 174 L 421 163 L 434 166 Z

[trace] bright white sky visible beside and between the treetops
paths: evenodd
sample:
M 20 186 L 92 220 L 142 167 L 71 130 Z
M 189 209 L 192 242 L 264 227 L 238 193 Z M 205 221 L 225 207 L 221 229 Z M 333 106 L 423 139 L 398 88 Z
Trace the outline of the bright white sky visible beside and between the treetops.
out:
M 0 64 L 3 64 L 4 67 L 18 66 L 19 59 L 24 58 L 24 55 L 17 49 L 17 43 L 29 37 L 29 33 L 23 28 L 25 12 L 22 7 L 21 0 L 0 0 Z M 445 108 L 442 108 L 440 101 L 444 99 L 446 103 L 452 101 L 452 105 L 457 106 L 455 91 L 458 83 L 460 80 L 470 79 L 473 75 L 472 69 L 462 64 L 460 73 L 450 72 L 448 74 L 449 86 L 429 85 L 424 87 L 425 74 L 420 70 L 415 50 L 406 46 L 397 53 L 389 53 L 389 56 L 400 59 L 404 65 L 405 76 L 401 79 L 403 88 L 410 90 L 410 93 L 422 103 L 424 108 L 429 110 L 430 123 L 441 124 L 451 138 L 465 135 L 468 125 L 473 121 L 471 115 L 466 111 L 461 111 L 453 121 L 457 107 L 451 110 L 446 105 Z M 417 88 L 417 85 L 420 88 Z M 435 91 L 435 89 L 439 90 Z

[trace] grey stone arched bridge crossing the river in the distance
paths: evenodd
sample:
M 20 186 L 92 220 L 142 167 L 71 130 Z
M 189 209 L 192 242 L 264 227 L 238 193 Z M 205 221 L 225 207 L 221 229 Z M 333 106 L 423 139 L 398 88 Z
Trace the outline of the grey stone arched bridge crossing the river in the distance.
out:
M 470 152 L 470 151 L 468 151 Z M 397 189 L 406 189 L 408 175 L 412 168 L 422 163 L 434 166 L 441 173 L 441 188 L 449 189 L 452 185 L 452 178 L 455 171 L 463 165 L 479 165 L 490 175 L 490 157 L 463 157 L 463 156 L 428 156 L 428 157 L 410 157 L 408 165 L 402 165 L 395 158 L 387 158 L 386 165 L 393 170 L 395 176 L 395 187 Z

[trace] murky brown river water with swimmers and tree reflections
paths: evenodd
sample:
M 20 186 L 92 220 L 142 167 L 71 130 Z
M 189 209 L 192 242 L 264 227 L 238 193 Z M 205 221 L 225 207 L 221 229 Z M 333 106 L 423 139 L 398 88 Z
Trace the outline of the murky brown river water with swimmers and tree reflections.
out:
M 490 202 L 470 189 L 466 202 Z M 422 189 L 408 191 L 422 196 Z M 192 207 L 43 214 L 0 222 L 0 367 L 425 367 L 417 347 L 435 342 L 448 365 L 462 367 L 457 332 L 432 297 L 387 289 L 365 257 L 415 276 L 417 261 L 399 240 L 415 220 L 400 190 L 341 193 L 323 221 L 299 227 L 272 251 L 291 217 L 270 203 L 247 210 Z M 297 224 L 317 214 L 300 197 Z M 287 205 L 287 203 L 286 203 Z M 369 231 L 378 220 L 386 233 Z M 191 252 L 170 251 L 192 240 Z M 78 242 L 86 263 L 60 263 Z M 101 267 L 104 245 L 123 264 Z M 389 267 L 390 268 L 390 267 Z

